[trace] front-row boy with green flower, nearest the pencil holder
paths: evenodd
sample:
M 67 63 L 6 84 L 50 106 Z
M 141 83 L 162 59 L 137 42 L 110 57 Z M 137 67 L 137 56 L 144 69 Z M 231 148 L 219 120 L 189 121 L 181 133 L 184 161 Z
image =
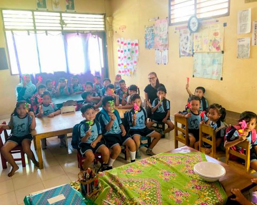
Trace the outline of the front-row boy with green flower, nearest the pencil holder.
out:
M 81 108 L 82 116 L 86 119 L 80 127 L 80 153 L 86 156 L 83 162 L 83 169 L 86 170 L 90 163 L 94 160 L 94 153 L 102 153 L 103 170 L 106 170 L 109 159 L 109 150 L 101 142 L 102 131 L 99 122 L 96 118 L 95 107 L 90 104 L 85 104 Z M 89 123 L 87 125 L 87 123 Z

